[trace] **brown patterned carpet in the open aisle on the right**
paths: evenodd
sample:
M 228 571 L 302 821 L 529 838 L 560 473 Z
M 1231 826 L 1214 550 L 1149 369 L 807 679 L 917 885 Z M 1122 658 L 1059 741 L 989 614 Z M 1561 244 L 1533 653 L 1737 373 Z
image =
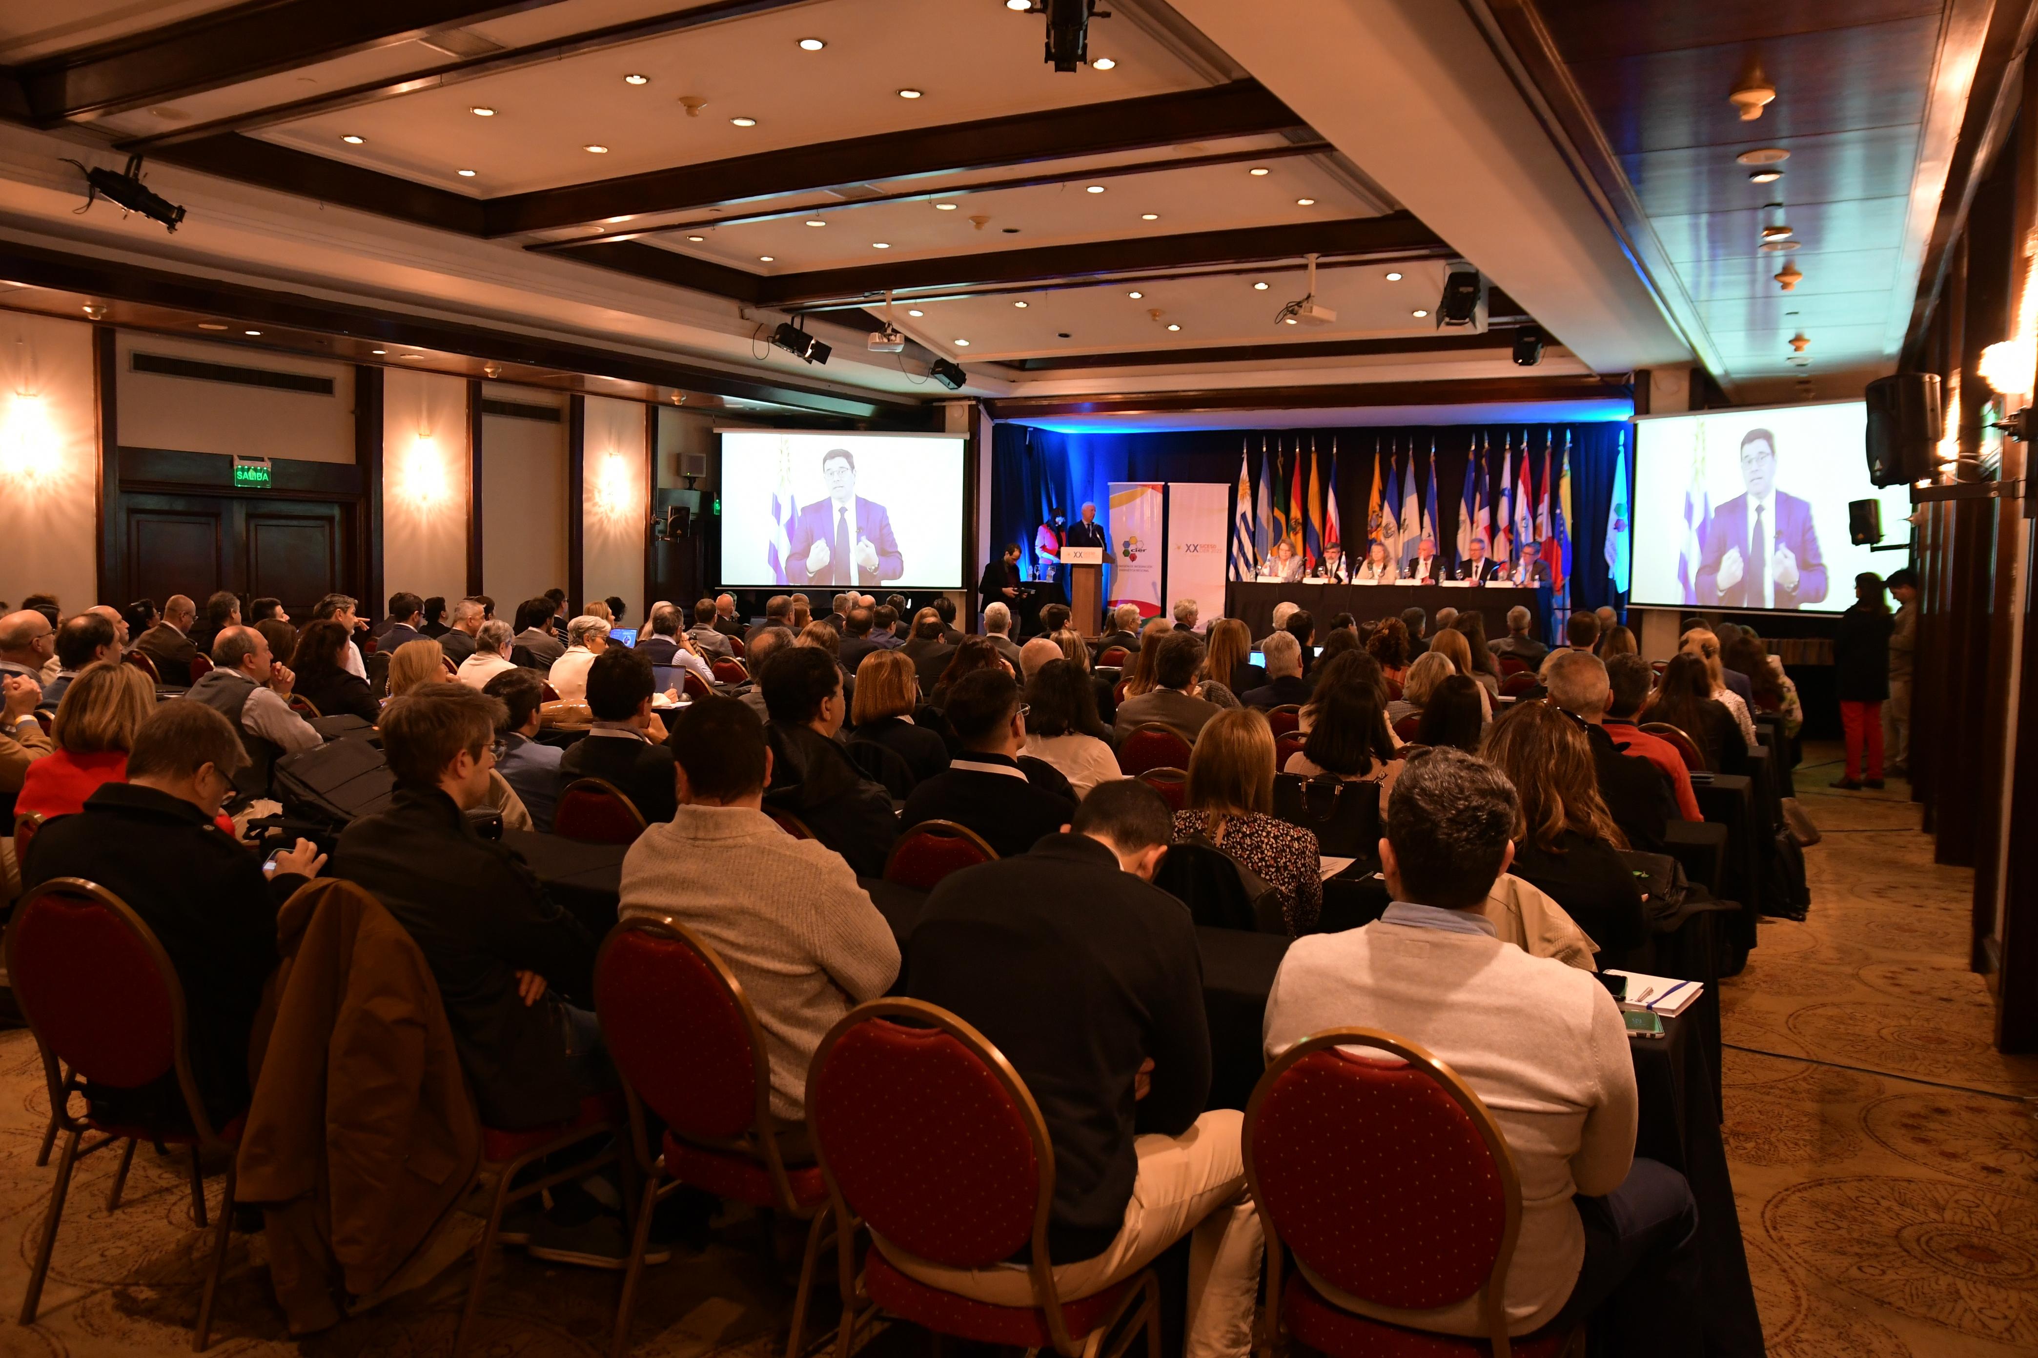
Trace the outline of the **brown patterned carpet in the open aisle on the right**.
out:
M 1808 753 L 1816 759 L 1820 753 Z M 1722 987 L 1726 1152 L 1775 1358 L 2038 1350 L 2038 1059 L 1989 1042 L 1973 873 L 1920 808 L 1798 770 L 1812 918 Z

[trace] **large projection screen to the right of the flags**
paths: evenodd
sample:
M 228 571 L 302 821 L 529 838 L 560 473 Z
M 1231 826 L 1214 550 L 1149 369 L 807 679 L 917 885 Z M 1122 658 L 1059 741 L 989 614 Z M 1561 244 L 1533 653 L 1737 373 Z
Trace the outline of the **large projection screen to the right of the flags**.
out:
M 1637 419 L 1628 601 L 1846 611 L 1857 574 L 1906 562 L 1848 542 L 1848 503 L 1881 503 L 1885 546 L 1910 540 L 1910 489 L 1869 485 L 1865 440 L 1861 401 Z

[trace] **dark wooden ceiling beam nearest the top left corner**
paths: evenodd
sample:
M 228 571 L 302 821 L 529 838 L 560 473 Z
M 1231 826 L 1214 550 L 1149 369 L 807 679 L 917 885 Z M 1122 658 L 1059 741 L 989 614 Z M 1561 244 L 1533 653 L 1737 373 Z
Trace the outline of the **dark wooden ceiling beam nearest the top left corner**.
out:
M 558 0 L 253 0 L 14 71 L 29 118 L 57 126 L 426 37 Z M 59 6 L 61 8 L 61 6 Z

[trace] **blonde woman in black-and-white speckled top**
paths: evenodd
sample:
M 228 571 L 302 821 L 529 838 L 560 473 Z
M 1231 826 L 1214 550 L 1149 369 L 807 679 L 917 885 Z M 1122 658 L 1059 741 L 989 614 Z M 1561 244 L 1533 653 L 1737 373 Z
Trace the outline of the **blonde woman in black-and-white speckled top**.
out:
M 1209 839 L 1282 894 L 1292 937 L 1317 928 L 1323 869 L 1317 837 L 1274 816 L 1274 729 L 1249 706 L 1225 709 L 1196 735 L 1174 841 Z

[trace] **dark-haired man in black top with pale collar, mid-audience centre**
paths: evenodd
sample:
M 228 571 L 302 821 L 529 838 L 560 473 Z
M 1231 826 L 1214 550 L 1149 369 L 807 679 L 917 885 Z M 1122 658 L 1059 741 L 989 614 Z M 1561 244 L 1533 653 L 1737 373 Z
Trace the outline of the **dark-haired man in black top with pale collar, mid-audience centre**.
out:
M 1039 759 L 1019 759 L 1025 749 L 1019 706 L 1019 684 L 999 670 L 972 670 L 956 682 L 942 715 L 962 741 L 962 753 L 950 759 L 948 772 L 913 788 L 899 814 L 905 829 L 954 821 L 976 831 L 999 857 L 1013 857 L 1068 825 L 1076 814 L 1068 780 Z

